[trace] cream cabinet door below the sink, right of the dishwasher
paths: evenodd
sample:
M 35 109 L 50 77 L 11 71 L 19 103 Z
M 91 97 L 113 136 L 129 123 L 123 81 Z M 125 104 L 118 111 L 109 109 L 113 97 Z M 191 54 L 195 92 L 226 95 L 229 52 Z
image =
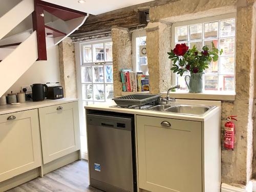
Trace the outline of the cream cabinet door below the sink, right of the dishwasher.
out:
M 137 116 L 139 187 L 202 191 L 201 133 L 201 122 Z

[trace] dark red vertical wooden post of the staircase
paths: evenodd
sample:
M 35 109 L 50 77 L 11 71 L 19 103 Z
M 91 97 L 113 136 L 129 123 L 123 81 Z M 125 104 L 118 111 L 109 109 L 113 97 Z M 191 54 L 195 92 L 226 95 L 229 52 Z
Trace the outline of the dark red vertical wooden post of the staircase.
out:
M 44 8 L 38 2 L 34 0 L 35 11 L 32 13 L 33 30 L 37 33 L 37 60 L 47 60 Z

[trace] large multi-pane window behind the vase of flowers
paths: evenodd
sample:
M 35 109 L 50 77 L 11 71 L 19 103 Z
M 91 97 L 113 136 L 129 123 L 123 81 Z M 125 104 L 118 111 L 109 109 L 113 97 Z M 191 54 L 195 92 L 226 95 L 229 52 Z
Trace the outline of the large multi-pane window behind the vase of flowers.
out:
M 217 62 L 211 62 L 205 71 L 204 88 L 211 91 L 234 91 L 235 46 L 236 46 L 236 19 L 234 15 L 224 15 L 215 18 L 198 19 L 173 25 L 172 47 L 185 43 L 189 48 L 195 45 L 200 50 L 204 45 L 223 50 Z M 175 81 L 181 89 L 186 90 L 184 74 L 175 75 Z M 174 84 L 174 83 L 173 83 Z

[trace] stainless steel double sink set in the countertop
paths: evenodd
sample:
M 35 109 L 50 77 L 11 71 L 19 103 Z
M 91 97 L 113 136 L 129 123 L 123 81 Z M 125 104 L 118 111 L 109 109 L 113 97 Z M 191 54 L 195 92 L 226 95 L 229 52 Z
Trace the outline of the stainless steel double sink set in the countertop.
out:
M 147 110 L 158 111 L 158 112 L 169 112 L 169 113 L 183 114 L 183 115 L 204 116 L 214 108 L 216 108 L 216 106 L 175 103 L 175 104 L 159 104 L 156 106 L 152 106 Z

